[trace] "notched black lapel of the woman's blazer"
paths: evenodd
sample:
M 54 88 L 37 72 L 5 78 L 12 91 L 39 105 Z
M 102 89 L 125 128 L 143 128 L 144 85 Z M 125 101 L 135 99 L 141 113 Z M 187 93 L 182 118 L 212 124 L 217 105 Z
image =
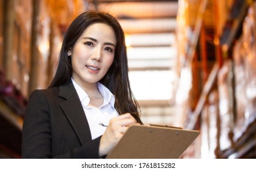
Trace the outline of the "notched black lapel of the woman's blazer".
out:
M 70 80 L 67 84 L 60 85 L 59 90 L 59 96 L 66 99 L 59 106 L 69 120 L 70 125 L 72 125 L 81 144 L 86 144 L 88 140 L 91 140 L 91 131 L 72 81 Z

